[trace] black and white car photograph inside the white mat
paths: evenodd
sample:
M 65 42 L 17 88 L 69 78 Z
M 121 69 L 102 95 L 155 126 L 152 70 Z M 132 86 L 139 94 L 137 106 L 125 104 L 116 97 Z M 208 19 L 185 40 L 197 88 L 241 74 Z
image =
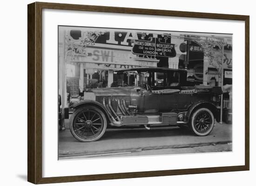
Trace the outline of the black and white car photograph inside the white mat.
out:
M 58 26 L 59 160 L 232 151 L 232 34 Z

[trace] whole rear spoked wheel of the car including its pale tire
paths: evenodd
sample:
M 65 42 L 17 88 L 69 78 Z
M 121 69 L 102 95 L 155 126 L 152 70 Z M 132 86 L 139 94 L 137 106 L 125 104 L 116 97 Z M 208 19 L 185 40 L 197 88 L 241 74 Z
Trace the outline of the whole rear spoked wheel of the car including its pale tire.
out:
M 214 115 L 209 109 L 200 108 L 195 110 L 191 117 L 191 129 L 199 136 L 209 135 L 214 127 Z

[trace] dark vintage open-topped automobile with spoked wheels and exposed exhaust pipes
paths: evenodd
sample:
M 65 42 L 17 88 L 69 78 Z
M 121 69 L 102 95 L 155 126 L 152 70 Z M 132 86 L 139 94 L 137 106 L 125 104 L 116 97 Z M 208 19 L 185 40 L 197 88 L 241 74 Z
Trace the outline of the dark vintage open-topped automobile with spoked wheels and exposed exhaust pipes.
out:
M 219 121 L 221 87 L 187 85 L 187 71 L 135 68 L 117 71 L 116 87 L 88 89 L 74 103 L 70 131 L 96 141 L 109 127 L 188 127 L 205 136 Z

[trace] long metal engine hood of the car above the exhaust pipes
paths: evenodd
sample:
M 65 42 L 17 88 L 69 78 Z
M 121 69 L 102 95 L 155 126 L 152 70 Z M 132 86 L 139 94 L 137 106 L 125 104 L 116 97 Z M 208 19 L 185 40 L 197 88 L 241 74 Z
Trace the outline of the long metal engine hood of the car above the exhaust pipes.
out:
M 96 96 L 129 96 L 131 87 L 91 89 Z

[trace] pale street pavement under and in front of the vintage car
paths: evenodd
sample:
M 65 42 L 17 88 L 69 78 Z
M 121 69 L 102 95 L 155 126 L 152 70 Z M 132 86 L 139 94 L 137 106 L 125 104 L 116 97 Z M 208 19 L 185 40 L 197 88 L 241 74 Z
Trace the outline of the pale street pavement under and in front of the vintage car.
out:
M 59 131 L 59 159 L 183 154 L 232 151 L 232 124 L 216 123 L 208 136 L 189 130 L 166 128 L 109 128 L 99 141 L 77 141 L 68 128 Z

